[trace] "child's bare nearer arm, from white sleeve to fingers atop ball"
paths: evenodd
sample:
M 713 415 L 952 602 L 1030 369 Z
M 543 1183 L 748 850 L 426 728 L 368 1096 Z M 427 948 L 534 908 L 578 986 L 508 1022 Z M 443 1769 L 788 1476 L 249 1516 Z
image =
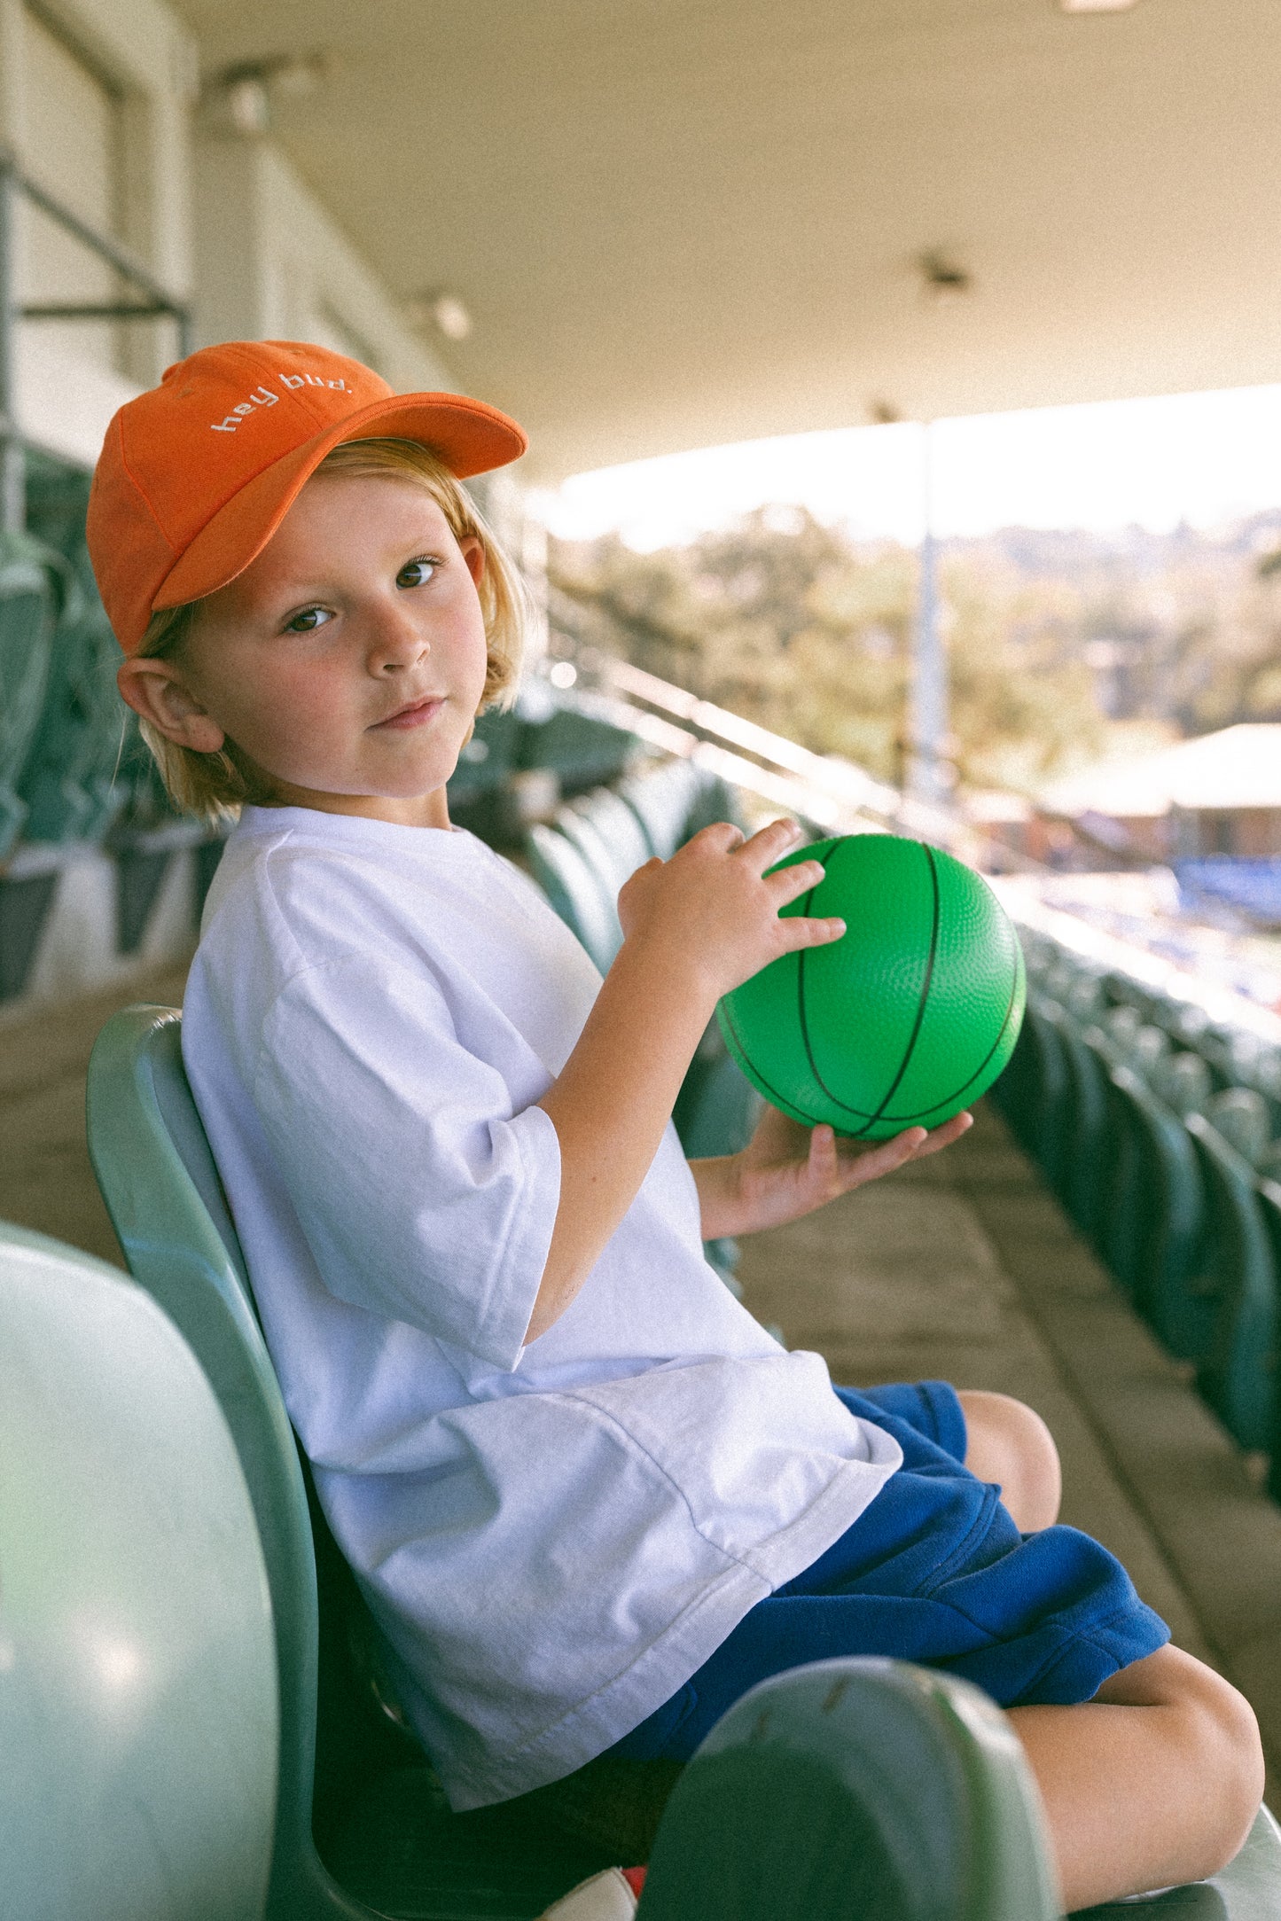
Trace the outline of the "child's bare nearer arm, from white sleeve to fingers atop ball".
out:
M 636 1199 L 720 995 L 778 955 L 845 932 L 843 920 L 780 920 L 822 874 L 816 861 L 764 872 L 797 836 L 791 820 L 749 841 L 726 824 L 703 828 L 618 895 L 622 949 L 538 1103 L 561 1145 L 561 1203 L 526 1341 L 572 1302 Z

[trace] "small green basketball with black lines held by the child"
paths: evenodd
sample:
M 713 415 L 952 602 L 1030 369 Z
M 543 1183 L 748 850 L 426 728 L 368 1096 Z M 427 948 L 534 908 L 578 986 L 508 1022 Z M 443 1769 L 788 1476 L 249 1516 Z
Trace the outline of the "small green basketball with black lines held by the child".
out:
M 807 1126 L 885 1141 L 937 1128 L 991 1087 L 1024 1018 L 1024 955 L 987 882 L 937 847 L 847 834 L 797 847 L 818 886 L 784 914 L 839 914 L 826 947 L 726 993 L 726 1045 L 766 1101 Z

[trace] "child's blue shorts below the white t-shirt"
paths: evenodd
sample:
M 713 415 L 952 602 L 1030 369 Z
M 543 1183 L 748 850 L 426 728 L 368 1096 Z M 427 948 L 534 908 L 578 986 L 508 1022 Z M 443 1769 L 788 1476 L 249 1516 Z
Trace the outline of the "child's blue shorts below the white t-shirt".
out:
M 1089 1535 L 1020 1535 L 1001 1491 L 964 1468 L 966 1418 L 945 1381 L 835 1391 L 895 1437 L 903 1468 L 812 1568 L 757 1602 L 611 1754 L 688 1760 L 757 1681 L 837 1654 L 945 1667 L 1016 1708 L 1089 1700 L 1108 1675 L 1170 1639 L 1122 1564 Z

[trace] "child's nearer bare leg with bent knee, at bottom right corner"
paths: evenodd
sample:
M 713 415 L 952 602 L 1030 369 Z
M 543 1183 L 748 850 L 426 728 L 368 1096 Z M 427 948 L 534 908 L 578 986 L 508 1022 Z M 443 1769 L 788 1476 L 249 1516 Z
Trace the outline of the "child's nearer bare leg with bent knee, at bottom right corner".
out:
M 1064 1908 L 1218 1873 L 1264 1794 L 1250 1704 L 1164 1646 L 1079 1708 L 1010 1708 L 1049 1819 Z

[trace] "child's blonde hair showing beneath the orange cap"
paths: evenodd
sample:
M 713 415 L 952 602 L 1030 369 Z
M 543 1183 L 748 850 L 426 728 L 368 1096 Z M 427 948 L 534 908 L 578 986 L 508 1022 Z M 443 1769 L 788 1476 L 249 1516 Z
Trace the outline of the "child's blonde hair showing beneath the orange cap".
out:
M 486 707 L 507 705 L 520 674 L 526 592 L 515 567 L 484 524 L 467 490 L 449 469 L 417 440 L 344 440 L 325 455 L 317 473 L 363 476 L 409 476 L 417 480 L 446 517 L 455 540 L 474 538 L 484 551 L 484 571 L 476 584 L 488 647 Z M 152 615 L 138 659 L 177 661 L 192 634 L 202 601 L 161 607 Z M 217 753 L 198 753 L 167 740 L 150 720 L 140 720 L 142 740 L 159 768 L 165 791 L 184 815 L 205 820 L 234 818 L 244 805 L 275 799 L 269 780 L 232 740 Z

